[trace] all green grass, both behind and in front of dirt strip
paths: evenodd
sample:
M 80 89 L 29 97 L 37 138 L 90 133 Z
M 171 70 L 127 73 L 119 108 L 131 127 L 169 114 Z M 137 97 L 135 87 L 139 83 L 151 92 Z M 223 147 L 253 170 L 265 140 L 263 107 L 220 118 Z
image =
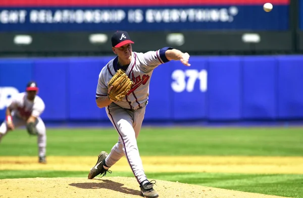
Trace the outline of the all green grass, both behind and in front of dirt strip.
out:
M 113 128 L 48 128 L 47 156 L 95 156 L 101 150 L 109 152 L 117 138 Z M 141 156 L 303 156 L 303 128 L 146 127 L 141 130 L 138 147 Z M 0 156 L 36 155 L 36 138 L 28 137 L 24 129 L 8 134 L 0 144 Z M 303 198 L 301 174 L 146 174 L 168 181 Z M 86 176 L 87 171 L 0 170 L 0 179 Z M 113 172 L 111 176 L 133 175 Z

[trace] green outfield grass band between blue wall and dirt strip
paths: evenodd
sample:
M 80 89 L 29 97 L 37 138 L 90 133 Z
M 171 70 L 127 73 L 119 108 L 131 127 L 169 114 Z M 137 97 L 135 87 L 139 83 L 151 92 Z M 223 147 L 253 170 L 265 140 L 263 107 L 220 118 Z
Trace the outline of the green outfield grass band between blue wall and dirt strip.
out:
M 1 0 L 0 0 L 1 1 Z M 169 141 L 168 141 L 169 137 Z M 114 128 L 48 128 L 48 156 L 97 156 L 117 143 Z M 303 156 L 302 128 L 142 128 L 141 156 Z M 150 145 L 157 145 L 151 147 Z M 9 133 L 0 156 L 36 156 L 37 139 L 24 129 Z

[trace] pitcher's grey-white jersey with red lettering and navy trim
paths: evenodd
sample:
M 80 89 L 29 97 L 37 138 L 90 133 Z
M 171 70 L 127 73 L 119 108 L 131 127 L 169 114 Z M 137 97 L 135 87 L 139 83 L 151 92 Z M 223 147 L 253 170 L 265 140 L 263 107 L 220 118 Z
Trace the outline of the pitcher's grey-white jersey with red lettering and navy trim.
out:
M 100 96 L 108 95 L 108 82 L 116 74 L 117 70 L 122 69 L 135 84 L 122 101 L 115 103 L 126 109 L 137 109 L 144 106 L 148 100 L 151 74 L 153 74 L 154 69 L 158 65 L 169 61 L 165 56 L 165 52 L 168 49 L 172 48 L 165 47 L 146 53 L 132 52 L 131 62 L 128 67 L 119 65 L 118 56 L 109 61 L 99 74 L 96 99 Z

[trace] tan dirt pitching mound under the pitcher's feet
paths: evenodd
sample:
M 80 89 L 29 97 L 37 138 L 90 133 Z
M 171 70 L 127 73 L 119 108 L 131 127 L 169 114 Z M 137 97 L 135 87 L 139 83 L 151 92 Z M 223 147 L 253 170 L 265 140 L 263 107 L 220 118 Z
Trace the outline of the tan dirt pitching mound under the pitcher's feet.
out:
M 140 188 L 132 177 L 95 178 L 23 178 L 1 179 L 1 197 L 141 197 Z M 257 193 L 225 190 L 220 188 L 189 185 L 185 183 L 157 180 L 155 189 L 159 197 L 189 198 L 274 198 Z

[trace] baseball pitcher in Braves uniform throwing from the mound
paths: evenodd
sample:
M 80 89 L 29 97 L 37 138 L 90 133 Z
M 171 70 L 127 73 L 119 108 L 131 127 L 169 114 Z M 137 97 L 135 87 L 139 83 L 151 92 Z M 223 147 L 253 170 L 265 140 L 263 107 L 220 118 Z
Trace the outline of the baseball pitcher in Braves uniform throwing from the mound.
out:
M 153 188 L 156 181 L 149 181 L 144 173 L 136 139 L 148 103 L 149 82 L 154 69 L 170 60 L 180 60 L 190 66 L 189 55 L 171 47 L 146 53 L 133 52 L 133 43 L 127 32 L 115 32 L 112 35 L 112 50 L 117 56 L 99 74 L 96 104 L 99 108 L 106 107 L 119 138 L 110 154 L 103 151 L 98 155 L 88 179 L 111 173 L 108 169 L 125 156 L 138 181 L 141 195 L 158 197 Z

